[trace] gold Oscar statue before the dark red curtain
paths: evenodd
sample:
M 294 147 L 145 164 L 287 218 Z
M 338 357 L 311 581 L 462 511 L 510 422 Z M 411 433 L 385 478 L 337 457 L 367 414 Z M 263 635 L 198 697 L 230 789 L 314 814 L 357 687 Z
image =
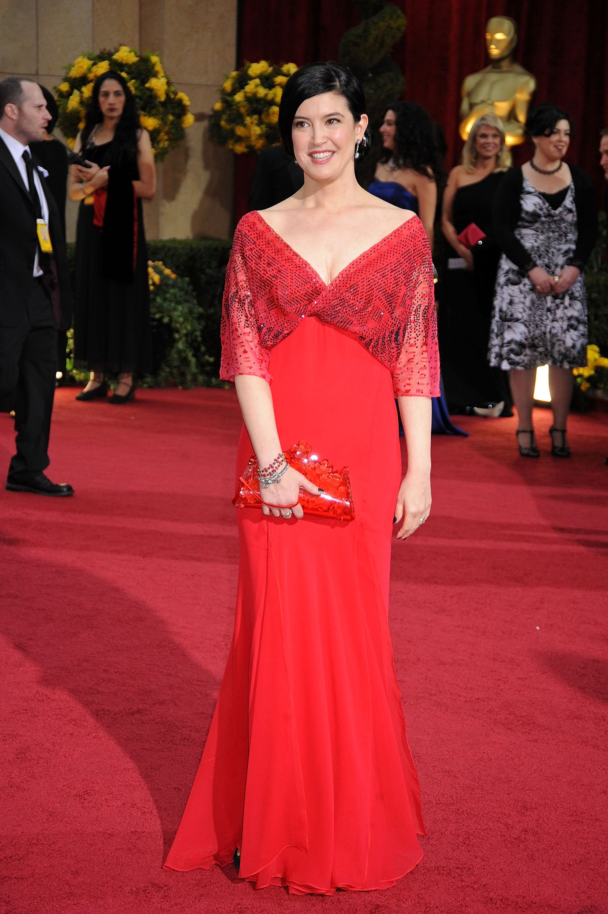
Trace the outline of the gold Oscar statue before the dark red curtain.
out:
M 524 123 L 536 80 L 513 59 L 518 43 L 518 27 L 510 16 L 487 20 L 486 48 L 488 67 L 471 73 L 462 84 L 460 136 L 463 140 L 482 114 L 496 114 L 505 125 L 508 146 L 524 141 Z

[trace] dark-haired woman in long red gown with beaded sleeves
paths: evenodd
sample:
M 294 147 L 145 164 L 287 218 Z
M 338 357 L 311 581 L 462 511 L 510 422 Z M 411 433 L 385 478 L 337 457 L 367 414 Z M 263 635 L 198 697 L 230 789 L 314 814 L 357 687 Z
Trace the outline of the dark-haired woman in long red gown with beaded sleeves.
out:
M 236 477 L 255 453 L 273 506 L 237 513 L 235 633 L 165 863 L 234 858 L 300 894 L 392 886 L 425 834 L 387 613 L 393 518 L 403 540 L 431 506 L 433 267 L 420 220 L 357 184 L 364 106 L 350 70 L 299 69 L 279 127 L 304 187 L 236 228 L 221 377 L 245 420 Z M 299 441 L 348 466 L 350 523 L 302 516 L 317 490 L 281 456 Z

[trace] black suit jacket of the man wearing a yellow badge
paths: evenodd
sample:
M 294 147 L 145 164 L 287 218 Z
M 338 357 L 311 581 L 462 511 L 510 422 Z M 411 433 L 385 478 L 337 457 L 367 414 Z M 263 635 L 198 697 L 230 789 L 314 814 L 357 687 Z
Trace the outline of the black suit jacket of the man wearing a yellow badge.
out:
M 35 167 L 39 165 L 34 156 L 32 162 Z M 57 204 L 44 175 L 38 171 L 38 176 L 47 197 L 48 230 L 58 271 L 61 302 L 59 329 L 68 330 L 72 307 L 66 240 L 61 231 Z M 36 246 L 36 210 L 15 159 L 0 137 L 0 327 L 15 327 L 23 318 L 32 283 Z

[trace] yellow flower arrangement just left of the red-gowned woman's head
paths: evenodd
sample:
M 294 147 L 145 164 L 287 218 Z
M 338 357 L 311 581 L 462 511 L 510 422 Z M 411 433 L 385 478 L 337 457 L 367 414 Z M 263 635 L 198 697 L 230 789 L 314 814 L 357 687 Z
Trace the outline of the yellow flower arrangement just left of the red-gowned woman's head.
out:
M 295 63 L 278 66 L 259 60 L 227 73 L 209 118 L 215 143 L 236 155 L 280 143 L 278 105 L 283 87 L 297 69 Z

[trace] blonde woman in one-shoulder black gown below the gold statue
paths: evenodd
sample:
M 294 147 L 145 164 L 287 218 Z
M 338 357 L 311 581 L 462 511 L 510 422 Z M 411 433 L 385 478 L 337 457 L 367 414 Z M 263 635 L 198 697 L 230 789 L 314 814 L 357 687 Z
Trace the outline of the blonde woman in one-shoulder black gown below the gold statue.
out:
M 500 258 L 492 237 L 492 202 L 507 161 L 502 122 L 487 114 L 473 124 L 463 164 L 452 169 L 447 181 L 442 228 L 450 247 L 438 318 L 442 377 L 452 412 L 512 415 L 507 372 L 487 361 Z M 471 225 L 486 237 L 469 249 L 457 236 Z

